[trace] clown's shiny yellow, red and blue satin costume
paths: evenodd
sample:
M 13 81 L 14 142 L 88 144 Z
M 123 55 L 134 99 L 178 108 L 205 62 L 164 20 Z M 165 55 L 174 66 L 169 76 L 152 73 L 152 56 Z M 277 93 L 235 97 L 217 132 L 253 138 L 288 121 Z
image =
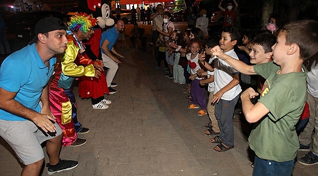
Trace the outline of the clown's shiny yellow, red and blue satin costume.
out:
M 94 61 L 85 59 L 79 53 L 80 47 L 75 36 L 67 35 L 67 38 L 67 49 L 57 63 L 49 89 L 51 111 L 63 130 L 63 146 L 72 144 L 77 138 L 75 131 L 82 129 L 82 125 L 77 121 L 75 97 L 70 87 L 75 77 L 95 75 Z M 79 66 L 80 64 L 86 66 Z

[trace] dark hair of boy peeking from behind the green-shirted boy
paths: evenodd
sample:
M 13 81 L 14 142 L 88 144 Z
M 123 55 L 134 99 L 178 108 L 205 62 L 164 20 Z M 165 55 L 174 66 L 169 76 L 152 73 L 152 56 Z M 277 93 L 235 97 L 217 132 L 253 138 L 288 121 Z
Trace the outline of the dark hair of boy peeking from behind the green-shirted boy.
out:
M 272 52 L 272 46 L 276 43 L 276 37 L 273 34 L 258 34 L 251 42 L 263 46 L 265 53 Z

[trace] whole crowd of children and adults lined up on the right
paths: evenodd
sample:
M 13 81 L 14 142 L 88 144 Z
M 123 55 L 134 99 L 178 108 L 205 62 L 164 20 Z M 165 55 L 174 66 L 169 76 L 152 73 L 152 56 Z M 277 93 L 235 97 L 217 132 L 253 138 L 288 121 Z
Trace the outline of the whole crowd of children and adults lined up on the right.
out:
M 197 18 L 196 8 L 191 7 L 186 18 L 189 29 L 182 33 L 175 29 L 171 14 L 158 5 L 157 13 L 151 16 L 156 69 L 163 60 L 164 76 L 185 84 L 182 91 L 190 93 L 186 108 L 198 109 L 198 116 L 208 114 L 204 133 L 212 135 L 210 142 L 217 144 L 217 152 L 234 148 L 233 114 L 241 109 L 239 113 L 250 123 L 254 176 L 291 176 L 297 151 L 309 152 L 297 159 L 300 164 L 318 164 L 318 78 L 313 76 L 318 73 L 314 55 L 318 22 L 284 25 L 272 14 L 264 27 L 240 31 L 234 23 L 238 3 L 233 0 L 225 4 L 226 8 L 222 5 L 223 0 L 219 3 L 225 12 L 223 32 L 209 37 L 206 10 L 202 9 Z M 301 42 L 304 38 L 308 39 L 305 43 Z M 305 45 L 315 47 L 304 51 Z M 251 76 L 254 74 L 259 76 Z M 292 82 L 293 87 L 289 86 Z M 289 93 L 281 95 L 280 90 L 285 88 Z

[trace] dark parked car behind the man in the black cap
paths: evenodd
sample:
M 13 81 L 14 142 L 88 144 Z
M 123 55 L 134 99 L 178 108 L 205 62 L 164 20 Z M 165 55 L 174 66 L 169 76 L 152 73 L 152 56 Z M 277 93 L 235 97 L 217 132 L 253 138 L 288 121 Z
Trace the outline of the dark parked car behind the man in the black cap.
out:
M 66 15 L 60 11 L 23 12 L 10 18 L 10 31 L 16 34 L 17 39 L 31 40 L 35 36 L 35 24 L 45 17 L 57 17 L 63 20 Z

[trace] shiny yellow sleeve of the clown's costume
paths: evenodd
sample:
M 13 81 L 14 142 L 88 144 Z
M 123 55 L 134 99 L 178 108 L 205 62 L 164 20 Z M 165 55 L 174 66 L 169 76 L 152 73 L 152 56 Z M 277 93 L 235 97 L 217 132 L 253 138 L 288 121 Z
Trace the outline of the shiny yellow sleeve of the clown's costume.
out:
M 72 77 L 80 77 L 80 76 L 88 76 L 94 77 L 95 69 L 92 64 L 88 66 L 77 66 L 74 61 L 78 54 L 79 47 L 76 46 L 73 42 L 68 42 L 67 49 L 65 54 L 62 56 L 61 64 L 62 64 L 62 72 L 66 76 Z

